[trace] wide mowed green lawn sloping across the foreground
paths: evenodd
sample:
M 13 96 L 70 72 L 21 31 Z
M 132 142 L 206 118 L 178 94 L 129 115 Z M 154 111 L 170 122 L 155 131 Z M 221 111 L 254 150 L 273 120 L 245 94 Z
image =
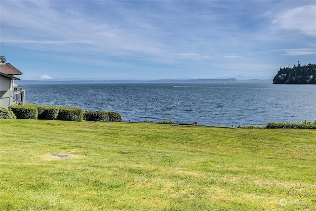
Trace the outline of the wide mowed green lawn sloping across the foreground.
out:
M 316 130 L 0 120 L 0 210 L 316 210 Z

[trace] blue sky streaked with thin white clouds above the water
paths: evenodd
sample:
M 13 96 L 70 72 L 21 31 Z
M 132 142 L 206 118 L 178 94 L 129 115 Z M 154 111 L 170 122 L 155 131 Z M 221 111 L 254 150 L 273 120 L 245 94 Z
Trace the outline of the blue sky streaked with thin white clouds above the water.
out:
M 0 54 L 22 79 L 264 79 L 316 63 L 315 0 L 1 0 L 0 12 Z

